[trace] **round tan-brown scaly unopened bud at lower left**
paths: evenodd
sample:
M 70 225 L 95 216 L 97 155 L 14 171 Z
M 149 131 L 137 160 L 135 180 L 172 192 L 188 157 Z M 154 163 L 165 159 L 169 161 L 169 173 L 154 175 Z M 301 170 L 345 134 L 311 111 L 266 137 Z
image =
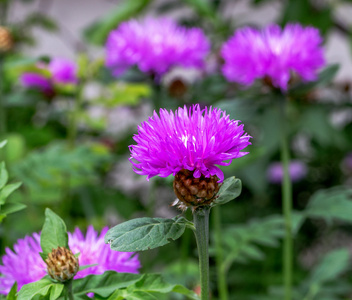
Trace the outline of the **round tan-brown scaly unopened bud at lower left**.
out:
M 53 249 L 45 260 L 51 278 L 65 282 L 72 279 L 79 269 L 78 259 L 65 247 Z

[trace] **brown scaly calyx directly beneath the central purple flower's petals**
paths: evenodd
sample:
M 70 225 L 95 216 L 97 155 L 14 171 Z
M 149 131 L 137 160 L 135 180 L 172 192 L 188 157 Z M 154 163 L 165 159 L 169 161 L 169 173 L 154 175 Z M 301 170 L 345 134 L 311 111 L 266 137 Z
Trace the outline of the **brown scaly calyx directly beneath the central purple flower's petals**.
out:
M 194 178 L 193 171 L 186 169 L 176 174 L 173 186 L 179 199 L 174 204 L 180 209 L 185 209 L 187 206 L 198 207 L 211 204 L 220 187 L 217 176 L 206 178 L 201 175 L 199 178 Z

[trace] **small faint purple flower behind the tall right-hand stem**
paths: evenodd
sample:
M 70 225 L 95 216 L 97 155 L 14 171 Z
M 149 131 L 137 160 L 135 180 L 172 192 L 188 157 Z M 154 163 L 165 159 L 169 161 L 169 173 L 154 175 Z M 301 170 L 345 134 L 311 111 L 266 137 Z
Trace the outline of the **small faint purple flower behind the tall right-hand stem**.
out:
M 300 160 L 291 160 L 289 173 L 292 182 L 297 182 L 306 177 L 308 173 L 307 166 Z M 281 162 L 272 163 L 267 170 L 267 177 L 271 183 L 281 183 L 284 177 L 284 169 Z

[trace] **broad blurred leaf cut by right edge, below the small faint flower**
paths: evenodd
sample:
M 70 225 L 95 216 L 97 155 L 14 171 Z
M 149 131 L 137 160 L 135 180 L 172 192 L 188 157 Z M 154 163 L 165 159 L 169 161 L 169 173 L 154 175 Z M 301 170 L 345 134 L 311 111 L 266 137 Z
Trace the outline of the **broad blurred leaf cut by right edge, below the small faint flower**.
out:
M 310 198 L 304 213 L 308 217 L 352 222 L 352 189 L 333 187 L 319 190 Z

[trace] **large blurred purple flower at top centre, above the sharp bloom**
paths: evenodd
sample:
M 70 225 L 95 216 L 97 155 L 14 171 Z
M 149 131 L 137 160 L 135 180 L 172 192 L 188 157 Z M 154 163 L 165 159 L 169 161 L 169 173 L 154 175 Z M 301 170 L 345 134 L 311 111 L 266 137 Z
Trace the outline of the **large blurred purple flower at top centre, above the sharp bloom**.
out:
M 109 34 L 106 66 L 116 76 L 134 65 L 160 76 L 174 66 L 202 67 L 209 49 L 199 28 L 187 29 L 170 19 L 130 20 Z

